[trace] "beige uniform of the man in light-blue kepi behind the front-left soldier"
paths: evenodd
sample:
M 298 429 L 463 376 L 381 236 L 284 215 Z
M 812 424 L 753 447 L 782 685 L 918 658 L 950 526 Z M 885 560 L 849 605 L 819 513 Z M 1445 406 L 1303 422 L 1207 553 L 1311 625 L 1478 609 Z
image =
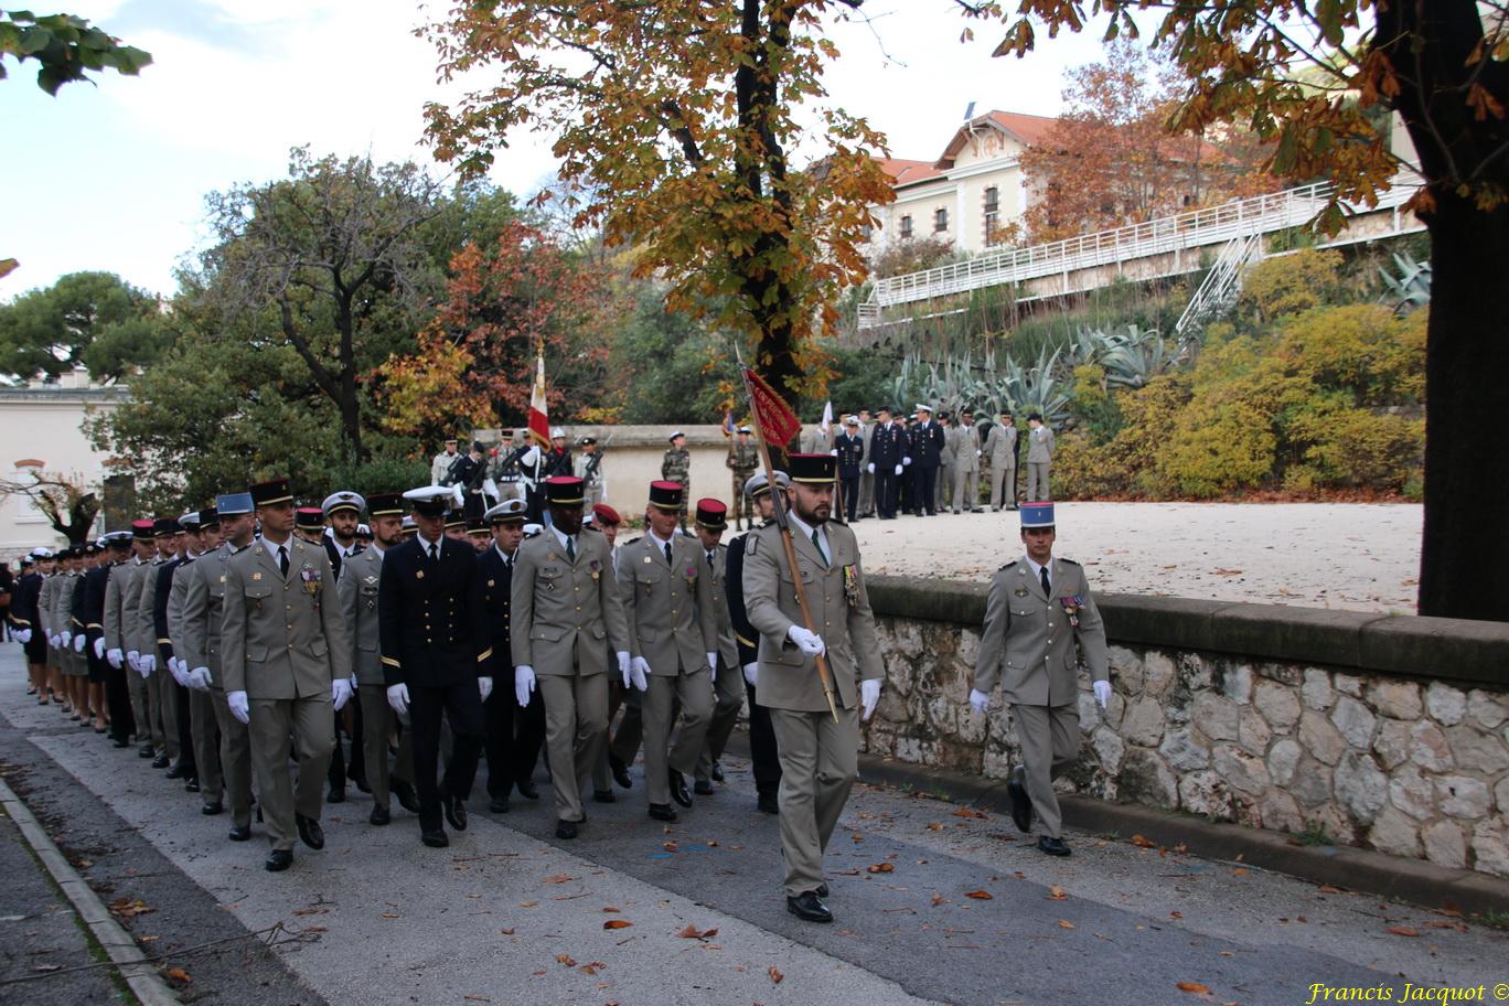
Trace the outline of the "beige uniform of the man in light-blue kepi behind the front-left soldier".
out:
M 220 662 L 226 563 L 234 552 L 235 549 L 226 541 L 213 552 L 201 555 L 187 570 L 180 570 L 174 576 L 174 588 L 177 590 L 178 581 L 184 582 L 183 611 L 178 618 L 183 649 L 178 650 L 178 656 L 189 665 L 189 670 L 202 667 L 210 671 L 210 710 L 220 733 L 222 784 L 225 795 L 229 796 L 231 825 L 247 828 L 252 824 L 250 731 L 244 722 L 231 715 L 231 707 L 225 703 L 225 679 Z M 195 756 L 199 757 L 198 747 Z M 199 762 L 199 796 L 205 804 L 214 804 L 220 799 L 220 792 L 211 790 L 205 783 L 204 762 Z

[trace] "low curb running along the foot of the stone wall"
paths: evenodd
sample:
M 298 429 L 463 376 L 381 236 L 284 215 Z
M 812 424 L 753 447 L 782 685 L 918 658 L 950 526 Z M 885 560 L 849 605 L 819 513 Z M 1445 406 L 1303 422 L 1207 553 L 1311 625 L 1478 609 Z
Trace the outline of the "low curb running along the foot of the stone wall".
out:
M 860 781 L 911 786 L 917 792 L 946 795 L 954 802 L 1011 814 L 1005 780 L 908 765 L 865 753 L 859 756 L 859 774 Z M 1242 857 L 1246 866 L 1351 891 L 1396 897 L 1426 908 L 1452 908 L 1468 916 L 1509 911 L 1509 881 L 1474 870 L 1456 870 L 1351 846 L 1292 845 L 1290 836 L 1281 831 L 1212 824 L 1203 817 L 1138 804 L 1112 804 L 1093 796 L 1061 793 L 1058 802 L 1065 825 L 1089 833 L 1115 831 L 1126 837 L 1139 834 L 1163 846 L 1183 845 L 1195 855 L 1212 860 Z

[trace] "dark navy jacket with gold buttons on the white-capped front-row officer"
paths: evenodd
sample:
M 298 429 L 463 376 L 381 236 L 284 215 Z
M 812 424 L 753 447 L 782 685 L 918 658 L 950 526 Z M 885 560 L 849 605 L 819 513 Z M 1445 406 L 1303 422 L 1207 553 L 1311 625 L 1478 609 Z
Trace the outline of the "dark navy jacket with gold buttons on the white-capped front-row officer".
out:
M 492 674 L 492 639 L 477 581 L 477 554 L 441 538 L 430 561 L 415 535 L 382 557 L 377 635 L 388 686 L 447 688 Z

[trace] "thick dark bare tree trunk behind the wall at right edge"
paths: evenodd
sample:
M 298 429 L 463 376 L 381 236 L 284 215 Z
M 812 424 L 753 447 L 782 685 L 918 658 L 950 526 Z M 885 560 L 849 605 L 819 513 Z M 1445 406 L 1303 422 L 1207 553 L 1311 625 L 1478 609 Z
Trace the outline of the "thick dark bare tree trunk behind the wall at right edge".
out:
M 1509 621 L 1509 208 L 1440 192 L 1431 214 L 1420 614 Z

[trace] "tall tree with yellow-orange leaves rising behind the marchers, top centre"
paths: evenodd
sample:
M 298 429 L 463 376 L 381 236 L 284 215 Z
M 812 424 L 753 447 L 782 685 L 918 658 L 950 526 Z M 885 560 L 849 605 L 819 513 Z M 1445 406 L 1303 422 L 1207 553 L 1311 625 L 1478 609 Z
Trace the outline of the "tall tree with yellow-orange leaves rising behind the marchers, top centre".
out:
M 554 140 L 575 222 L 632 246 L 670 306 L 758 345 L 795 398 L 837 297 L 863 279 L 869 207 L 890 199 L 869 124 L 822 101 L 822 20 L 859 0 L 459 3 L 424 29 L 444 81 L 436 155 L 486 170 L 515 130 Z M 797 110 L 801 109 L 798 119 Z M 818 155 L 794 164 L 797 142 Z

